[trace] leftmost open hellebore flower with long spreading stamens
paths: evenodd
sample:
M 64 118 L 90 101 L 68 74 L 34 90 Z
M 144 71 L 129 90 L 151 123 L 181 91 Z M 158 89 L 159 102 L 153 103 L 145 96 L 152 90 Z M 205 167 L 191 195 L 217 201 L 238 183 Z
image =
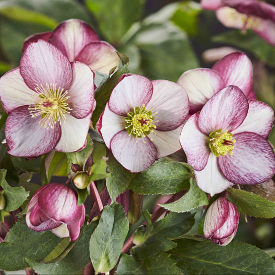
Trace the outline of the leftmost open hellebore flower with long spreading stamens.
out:
M 52 149 L 85 146 L 94 100 L 94 73 L 38 40 L 25 50 L 20 67 L 0 79 L 8 153 L 36 157 Z

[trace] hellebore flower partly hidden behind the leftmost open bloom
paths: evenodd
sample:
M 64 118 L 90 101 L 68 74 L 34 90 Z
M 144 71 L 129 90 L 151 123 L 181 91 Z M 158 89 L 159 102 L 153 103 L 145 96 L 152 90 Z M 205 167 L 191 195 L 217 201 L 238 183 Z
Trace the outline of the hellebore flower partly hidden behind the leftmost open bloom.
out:
M 43 39 L 56 46 L 69 62 L 81 61 L 93 71 L 109 73 L 120 63 L 116 49 L 100 41 L 96 32 L 84 21 L 69 19 L 61 22 L 53 32 L 37 33 L 25 39 L 23 52 L 32 42 Z

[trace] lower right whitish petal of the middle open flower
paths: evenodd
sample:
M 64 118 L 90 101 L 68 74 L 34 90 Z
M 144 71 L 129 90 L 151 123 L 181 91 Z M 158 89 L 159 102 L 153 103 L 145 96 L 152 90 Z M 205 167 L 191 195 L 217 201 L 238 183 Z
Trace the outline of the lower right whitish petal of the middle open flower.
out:
M 157 131 L 148 135 L 151 138 L 152 143 L 157 148 L 157 158 L 171 155 L 181 149 L 179 137 L 182 131 L 183 125 L 171 131 Z

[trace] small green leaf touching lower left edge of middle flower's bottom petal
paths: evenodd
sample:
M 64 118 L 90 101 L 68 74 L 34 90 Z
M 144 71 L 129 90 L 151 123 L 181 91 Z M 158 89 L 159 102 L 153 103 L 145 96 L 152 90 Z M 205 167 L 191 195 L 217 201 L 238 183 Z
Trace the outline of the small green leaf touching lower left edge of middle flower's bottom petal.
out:
M 111 174 L 106 178 L 106 186 L 110 194 L 110 198 L 114 201 L 121 193 L 123 193 L 135 174 L 126 170 L 113 156 L 108 152 L 109 159 L 107 161 L 108 170 Z

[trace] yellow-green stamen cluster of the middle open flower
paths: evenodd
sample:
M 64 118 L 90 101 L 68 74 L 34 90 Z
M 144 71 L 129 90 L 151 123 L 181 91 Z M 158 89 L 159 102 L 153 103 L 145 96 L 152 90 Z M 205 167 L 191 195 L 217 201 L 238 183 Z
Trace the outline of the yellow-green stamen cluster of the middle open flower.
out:
M 129 112 L 124 120 L 126 121 L 125 129 L 129 136 L 132 135 L 135 138 L 143 138 L 156 129 L 153 124 L 154 116 L 151 111 L 145 110 L 144 104 L 141 108 L 134 108 L 133 112 Z

